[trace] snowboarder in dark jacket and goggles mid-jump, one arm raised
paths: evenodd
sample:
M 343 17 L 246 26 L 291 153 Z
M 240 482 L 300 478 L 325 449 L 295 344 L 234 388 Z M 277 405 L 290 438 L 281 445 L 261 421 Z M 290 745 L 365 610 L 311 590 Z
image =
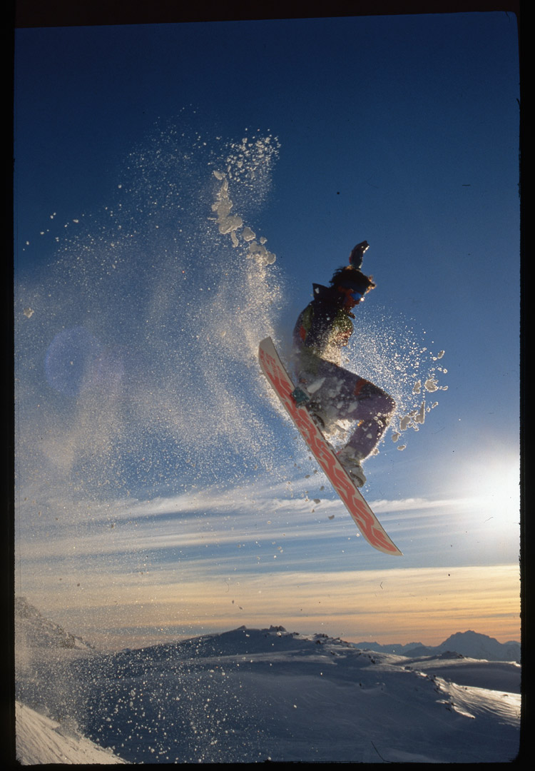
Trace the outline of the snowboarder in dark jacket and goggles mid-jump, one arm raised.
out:
M 343 369 L 342 348 L 353 333 L 353 308 L 375 288 L 361 271 L 368 242 L 357 244 L 349 264 L 339 268 L 330 286 L 313 284 L 314 299 L 299 315 L 294 328 L 294 369 L 298 387 L 294 399 L 305 404 L 318 426 L 329 433 L 338 420 L 357 421 L 338 460 L 362 487 L 362 461 L 379 443 L 389 425 L 395 402 L 377 385 Z

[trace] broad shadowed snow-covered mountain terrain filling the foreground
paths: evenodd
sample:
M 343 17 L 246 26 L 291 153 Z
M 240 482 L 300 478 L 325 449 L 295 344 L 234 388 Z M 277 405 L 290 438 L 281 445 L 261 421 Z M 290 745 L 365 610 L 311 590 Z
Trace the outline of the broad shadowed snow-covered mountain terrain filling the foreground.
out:
M 492 763 L 519 749 L 514 662 L 410 658 L 273 626 L 111 654 L 52 635 L 51 657 L 37 631 L 50 628 L 25 618 L 22 763 L 54 762 L 51 742 L 57 763 L 87 763 L 82 748 L 107 750 L 91 763 Z

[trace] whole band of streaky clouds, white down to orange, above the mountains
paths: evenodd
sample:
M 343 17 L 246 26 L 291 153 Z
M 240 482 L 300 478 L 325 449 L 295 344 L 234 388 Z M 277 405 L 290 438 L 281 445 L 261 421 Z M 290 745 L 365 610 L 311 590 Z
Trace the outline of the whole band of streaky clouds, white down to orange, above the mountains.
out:
M 466 534 L 473 501 L 373 501 L 407 546 L 399 565 L 365 544 L 338 497 L 318 493 L 321 482 L 261 478 L 72 508 L 56 500 L 41 516 L 28 500 L 19 511 L 18 591 L 112 646 L 133 645 L 128 635 L 143 645 L 146 635 L 241 624 L 378 641 L 409 641 L 417 629 L 428 642 L 455 631 L 454 619 L 493 636 L 517 628 L 517 564 L 459 567 L 464 544 L 482 538 L 483 530 Z M 483 544 L 482 557 L 496 563 Z M 436 567 L 412 567 L 412 554 Z M 126 631 L 133 626 L 139 633 Z

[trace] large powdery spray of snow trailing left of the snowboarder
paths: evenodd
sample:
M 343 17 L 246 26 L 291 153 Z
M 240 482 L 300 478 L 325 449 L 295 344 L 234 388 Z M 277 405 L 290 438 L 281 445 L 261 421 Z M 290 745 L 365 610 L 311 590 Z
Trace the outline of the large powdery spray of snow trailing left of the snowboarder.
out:
M 116 495 L 271 465 L 257 342 L 284 285 L 247 217 L 277 154 L 272 136 L 156 130 L 101 212 L 43 231 L 52 264 L 17 287 L 26 482 Z

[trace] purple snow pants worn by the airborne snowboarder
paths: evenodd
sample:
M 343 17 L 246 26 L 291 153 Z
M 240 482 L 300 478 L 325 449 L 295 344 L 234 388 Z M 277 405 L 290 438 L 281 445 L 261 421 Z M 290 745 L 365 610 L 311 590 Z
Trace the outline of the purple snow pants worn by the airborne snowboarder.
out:
M 315 359 L 312 370 L 297 362 L 299 385 L 310 394 L 315 409 L 325 421 L 325 431 L 337 420 L 357 422 L 346 446 L 364 460 L 379 443 L 395 411 L 395 402 L 379 386 L 325 359 Z

